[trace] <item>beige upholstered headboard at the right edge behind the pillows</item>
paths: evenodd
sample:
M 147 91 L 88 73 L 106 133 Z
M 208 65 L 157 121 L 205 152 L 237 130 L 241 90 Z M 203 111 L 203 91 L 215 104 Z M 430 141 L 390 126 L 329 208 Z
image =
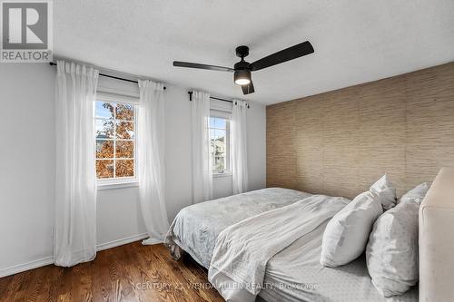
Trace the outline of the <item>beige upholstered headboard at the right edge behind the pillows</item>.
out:
M 454 169 L 439 171 L 419 208 L 419 301 L 454 301 Z

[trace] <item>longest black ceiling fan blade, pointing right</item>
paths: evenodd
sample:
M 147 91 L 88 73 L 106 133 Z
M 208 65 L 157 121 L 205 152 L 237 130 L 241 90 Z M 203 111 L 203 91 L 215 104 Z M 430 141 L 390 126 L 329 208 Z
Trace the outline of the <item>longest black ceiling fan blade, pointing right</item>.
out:
M 279 63 L 284 63 L 306 54 L 312 54 L 313 52 L 313 47 L 309 41 L 303 42 L 301 44 L 296 44 L 287 49 L 281 50 L 281 52 L 270 54 L 258 61 L 255 61 L 251 64 L 252 71 L 257 71 L 263 68 L 277 65 Z

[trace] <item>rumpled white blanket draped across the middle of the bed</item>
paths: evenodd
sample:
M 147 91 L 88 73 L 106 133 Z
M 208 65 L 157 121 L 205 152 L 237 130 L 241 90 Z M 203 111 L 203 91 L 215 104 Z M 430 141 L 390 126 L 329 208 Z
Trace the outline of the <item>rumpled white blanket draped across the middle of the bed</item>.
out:
M 254 301 L 268 261 L 311 234 L 350 200 L 313 195 L 224 229 L 212 253 L 209 280 L 227 301 Z

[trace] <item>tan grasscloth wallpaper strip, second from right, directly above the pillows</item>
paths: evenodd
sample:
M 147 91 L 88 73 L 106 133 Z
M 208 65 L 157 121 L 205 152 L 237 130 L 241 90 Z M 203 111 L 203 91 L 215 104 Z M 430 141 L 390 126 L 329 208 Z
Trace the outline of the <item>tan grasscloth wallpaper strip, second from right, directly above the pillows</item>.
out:
M 370 187 L 370 181 L 386 172 L 398 194 L 405 190 L 406 94 L 402 87 L 402 77 L 358 87 L 360 189 Z

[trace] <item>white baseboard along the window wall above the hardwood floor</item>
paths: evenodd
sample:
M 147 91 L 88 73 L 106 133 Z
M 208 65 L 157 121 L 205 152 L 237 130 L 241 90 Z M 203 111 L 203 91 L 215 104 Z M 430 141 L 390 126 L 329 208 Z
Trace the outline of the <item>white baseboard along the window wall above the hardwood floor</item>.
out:
M 108 248 L 115 248 L 115 247 L 123 246 L 124 244 L 132 243 L 134 241 L 139 241 L 139 240 L 146 239 L 146 238 L 148 238 L 148 235 L 146 233 L 143 233 L 143 234 L 137 234 L 137 235 L 133 235 L 130 237 L 126 237 L 123 239 L 116 239 L 116 240 L 113 240 L 110 242 L 106 242 L 106 243 L 97 245 L 96 250 L 100 251 L 100 250 L 104 250 L 104 249 L 108 249 Z M 161 243 L 161 242 L 156 241 L 156 243 Z M 51 256 L 51 257 L 46 257 L 46 258 L 41 258 L 38 260 L 30 261 L 30 262 L 23 263 L 23 264 L 18 264 L 13 267 L 10 267 L 10 268 L 3 268 L 3 269 L 0 269 L 0 278 L 14 275 L 17 273 L 21 273 L 25 270 L 41 268 L 41 267 L 44 267 L 44 266 L 47 266 L 47 265 L 53 264 L 53 263 L 54 263 L 54 257 Z

